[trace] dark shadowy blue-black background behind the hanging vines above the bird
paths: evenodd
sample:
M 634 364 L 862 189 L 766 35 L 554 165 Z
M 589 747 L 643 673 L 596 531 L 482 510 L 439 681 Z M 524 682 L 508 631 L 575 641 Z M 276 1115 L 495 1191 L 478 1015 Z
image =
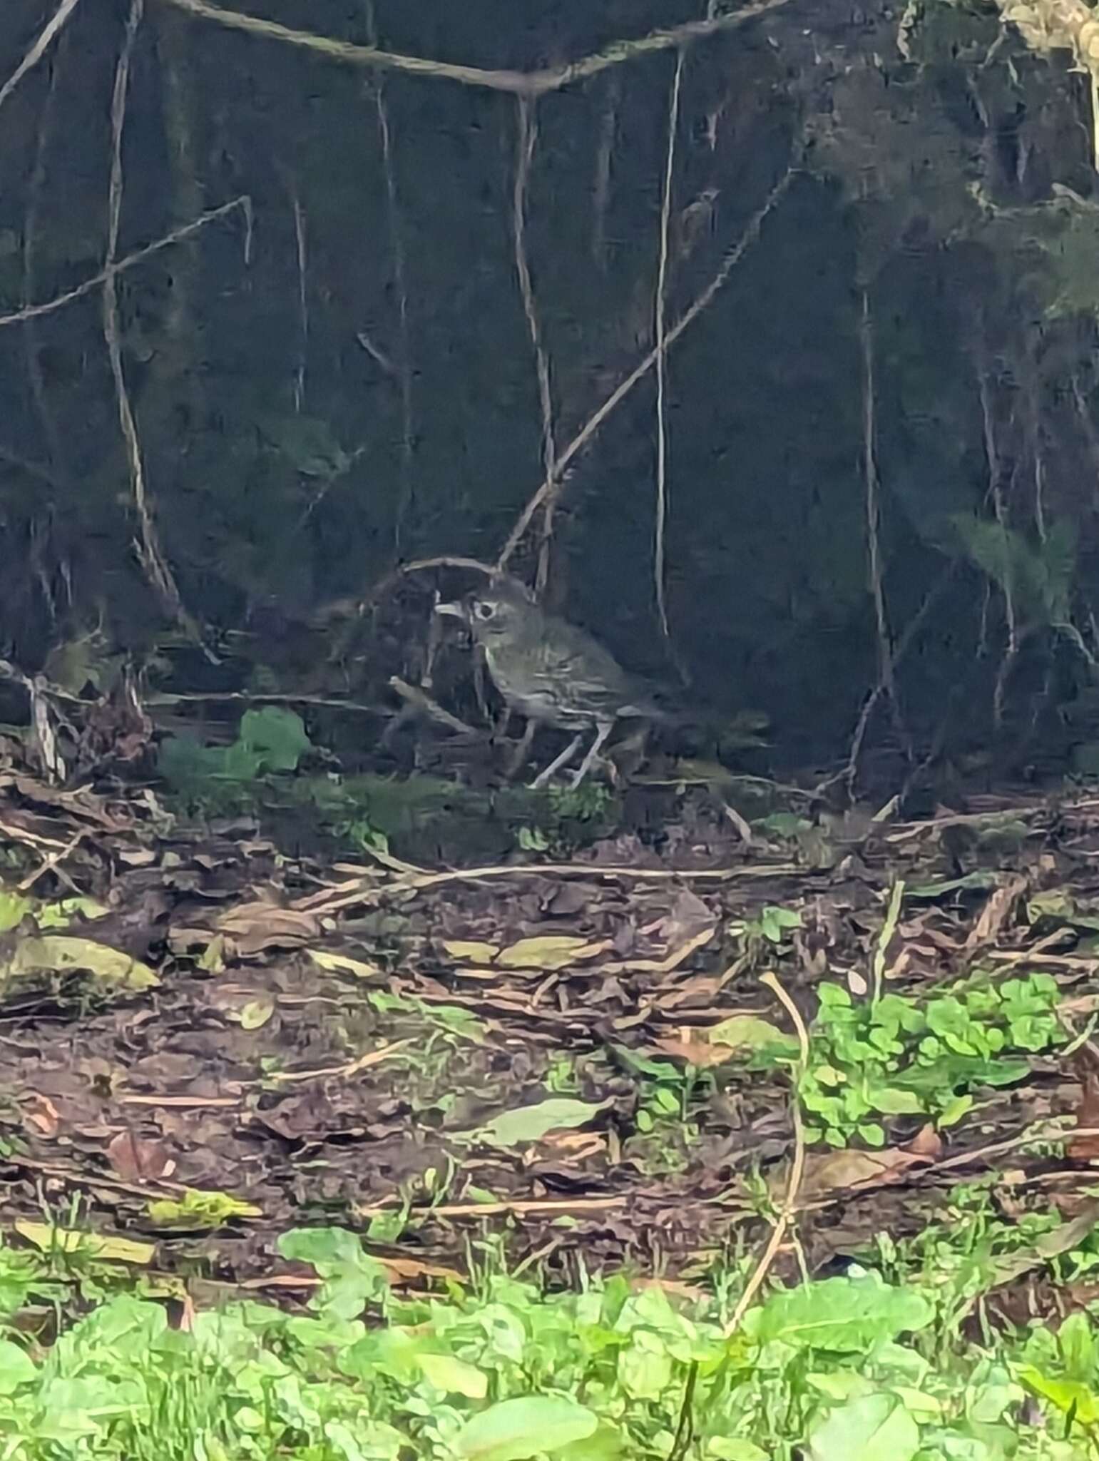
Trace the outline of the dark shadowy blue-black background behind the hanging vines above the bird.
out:
M 1 76 L 53 9 L 7 0 Z M 127 13 L 126 0 L 83 0 L 0 108 L 3 313 L 102 267 Z M 531 70 L 701 10 L 269 0 L 262 13 Z M 674 50 L 636 56 L 533 108 L 526 245 L 558 449 L 652 346 L 674 70 Z M 542 478 L 516 136 L 514 96 L 349 66 L 148 0 L 118 254 L 238 194 L 251 218 L 232 212 L 118 279 L 155 530 L 193 621 L 208 636 L 250 628 L 248 653 L 286 688 L 286 625 L 368 593 L 400 561 L 491 561 Z M 1030 54 L 995 7 L 935 0 L 791 0 L 697 39 L 669 323 L 791 168 L 760 241 L 668 356 L 671 643 L 653 596 L 652 374 L 574 463 L 550 602 L 631 668 L 680 666 L 719 713 L 766 710 L 782 758 L 846 754 L 881 672 L 870 339 L 886 643 L 905 641 L 899 714 L 883 700 L 871 741 L 915 754 L 991 741 L 1023 760 L 1036 741 L 1058 755 L 1076 744 L 1084 764 L 1099 649 L 1086 77 Z M 0 329 L 0 631 L 25 669 L 91 627 L 146 659 L 178 637 L 133 548 L 99 289 Z M 525 549 L 513 565 L 532 564 Z M 409 634 L 424 631 L 418 602 Z M 368 676 L 367 621 L 360 640 Z M 174 676 L 186 688 L 178 660 Z

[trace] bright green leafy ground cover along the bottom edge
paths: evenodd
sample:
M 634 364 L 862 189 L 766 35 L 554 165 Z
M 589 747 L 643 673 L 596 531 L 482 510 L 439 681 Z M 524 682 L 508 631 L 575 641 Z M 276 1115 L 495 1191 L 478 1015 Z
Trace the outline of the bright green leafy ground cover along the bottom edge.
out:
M 547 1292 L 478 1243 L 465 1281 L 402 1296 L 358 1235 L 308 1229 L 278 1243 L 317 1278 L 304 1306 L 244 1299 L 171 1327 L 155 1284 L 120 1290 L 54 1233 L 41 1256 L 0 1249 L 6 1316 L 35 1300 L 91 1305 L 53 1344 L 16 1330 L 0 1340 L 3 1454 L 1095 1455 L 1087 1312 L 995 1330 L 982 1312 L 1004 1275 L 1043 1264 L 1043 1242 L 1052 1256 L 1057 1230 L 989 1220 L 981 1194 L 959 1194 L 951 1218 L 918 1245 L 886 1242 L 877 1267 L 775 1289 L 735 1325 L 737 1262 L 704 1287 L 585 1274 Z M 1080 1240 L 1064 1255 L 1065 1293 L 1099 1262 Z

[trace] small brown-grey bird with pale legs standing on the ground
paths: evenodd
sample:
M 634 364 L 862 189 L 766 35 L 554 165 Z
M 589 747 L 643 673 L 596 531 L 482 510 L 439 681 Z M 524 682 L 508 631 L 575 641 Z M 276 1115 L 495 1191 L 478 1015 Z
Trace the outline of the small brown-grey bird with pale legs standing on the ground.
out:
M 574 732 L 533 787 L 545 786 L 571 761 L 586 732 L 595 735 L 573 774 L 573 787 L 590 771 L 617 720 L 668 719 L 609 650 L 576 624 L 548 614 L 516 580 L 500 579 L 462 600 L 437 603 L 436 614 L 468 624 L 509 710 L 535 725 Z

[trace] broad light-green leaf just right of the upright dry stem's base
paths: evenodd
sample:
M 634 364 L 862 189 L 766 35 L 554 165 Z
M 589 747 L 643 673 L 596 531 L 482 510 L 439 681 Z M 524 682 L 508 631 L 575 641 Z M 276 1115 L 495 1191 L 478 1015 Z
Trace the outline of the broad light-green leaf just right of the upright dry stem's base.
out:
M 754 1312 L 751 1337 L 795 1349 L 865 1350 L 881 1340 L 927 1328 L 931 1303 L 913 1289 L 893 1289 L 878 1274 L 824 1278 L 772 1294 Z M 750 1313 L 745 1319 L 748 1328 Z

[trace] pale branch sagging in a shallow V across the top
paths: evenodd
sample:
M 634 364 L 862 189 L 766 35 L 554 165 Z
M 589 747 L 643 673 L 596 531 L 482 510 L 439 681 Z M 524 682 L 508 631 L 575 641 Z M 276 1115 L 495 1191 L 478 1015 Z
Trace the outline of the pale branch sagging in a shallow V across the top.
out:
M 209 0 L 167 0 L 167 3 L 203 20 L 215 20 L 218 25 L 229 26 L 232 31 L 262 35 L 269 41 L 284 41 L 286 45 L 317 51 L 330 60 L 346 61 L 349 66 L 373 66 L 390 72 L 406 72 L 412 76 L 436 76 L 443 80 L 460 82 L 465 86 L 481 86 L 487 91 L 512 92 L 519 96 L 542 96 L 547 92 L 561 91 L 563 86 L 573 82 L 598 76 L 611 66 L 621 66 L 639 56 L 671 51 L 688 41 L 732 31 L 747 20 L 779 10 L 788 0 L 758 0 L 757 4 L 745 6 L 731 15 L 716 15 L 707 20 L 688 20 L 685 25 L 677 25 L 666 31 L 652 31 L 649 35 L 634 39 L 614 41 L 593 56 L 585 56 L 567 66 L 554 66 L 538 72 L 484 70 L 479 66 L 459 66 L 453 61 L 430 61 L 422 56 L 400 56 L 395 51 L 381 51 L 376 45 L 355 45 L 351 41 L 335 41 L 326 35 L 314 35 L 311 31 L 295 31 L 288 25 L 279 25 L 278 20 L 265 20 L 257 15 L 225 10 L 221 6 L 209 4 Z

